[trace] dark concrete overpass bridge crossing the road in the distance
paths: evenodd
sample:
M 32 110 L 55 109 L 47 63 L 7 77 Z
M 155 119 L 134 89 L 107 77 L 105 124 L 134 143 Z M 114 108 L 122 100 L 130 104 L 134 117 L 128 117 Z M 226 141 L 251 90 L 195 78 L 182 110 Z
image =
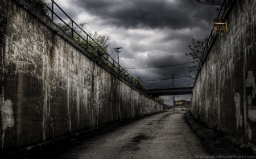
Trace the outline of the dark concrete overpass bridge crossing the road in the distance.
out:
M 152 96 L 168 96 L 168 95 L 182 95 L 192 94 L 193 85 L 184 85 L 180 87 L 162 87 L 162 88 L 150 88 L 149 94 Z

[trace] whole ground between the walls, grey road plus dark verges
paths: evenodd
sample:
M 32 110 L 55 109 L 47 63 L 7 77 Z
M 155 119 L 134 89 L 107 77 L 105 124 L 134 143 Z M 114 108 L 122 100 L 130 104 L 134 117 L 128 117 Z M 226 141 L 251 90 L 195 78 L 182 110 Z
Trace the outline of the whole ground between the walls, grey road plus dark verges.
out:
M 225 158 L 246 154 L 185 111 L 166 111 L 77 132 L 3 158 Z

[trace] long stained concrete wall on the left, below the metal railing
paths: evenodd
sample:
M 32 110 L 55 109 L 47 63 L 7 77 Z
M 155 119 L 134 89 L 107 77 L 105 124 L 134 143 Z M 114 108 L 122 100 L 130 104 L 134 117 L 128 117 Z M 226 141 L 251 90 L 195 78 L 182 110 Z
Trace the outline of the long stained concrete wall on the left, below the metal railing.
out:
M 2 149 L 163 111 L 51 22 L 9 10 L 1 51 Z

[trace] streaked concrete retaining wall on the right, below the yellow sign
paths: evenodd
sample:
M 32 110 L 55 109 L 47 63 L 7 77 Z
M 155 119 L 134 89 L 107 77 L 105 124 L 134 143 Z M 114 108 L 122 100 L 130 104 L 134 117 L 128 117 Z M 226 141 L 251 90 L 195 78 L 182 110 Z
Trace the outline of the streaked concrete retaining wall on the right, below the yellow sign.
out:
M 256 1 L 241 0 L 226 16 L 199 72 L 192 111 L 201 119 L 256 145 Z

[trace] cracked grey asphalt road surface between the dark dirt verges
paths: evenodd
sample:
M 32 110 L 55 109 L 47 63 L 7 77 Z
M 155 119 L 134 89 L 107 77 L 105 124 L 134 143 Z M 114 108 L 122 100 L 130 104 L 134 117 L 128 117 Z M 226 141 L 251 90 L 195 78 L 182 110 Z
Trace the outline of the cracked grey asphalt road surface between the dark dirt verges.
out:
M 210 156 L 184 120 L 168 111 L 92 137 L 59 158 L 199 158 Z

